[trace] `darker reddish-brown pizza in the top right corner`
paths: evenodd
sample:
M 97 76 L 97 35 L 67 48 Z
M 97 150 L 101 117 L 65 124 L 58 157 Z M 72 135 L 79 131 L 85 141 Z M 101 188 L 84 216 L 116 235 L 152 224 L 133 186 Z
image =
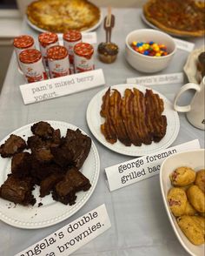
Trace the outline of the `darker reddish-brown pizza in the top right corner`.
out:
M 149 0 L 143 6 L 145 18 L 157 28 L 185 37 L 205 34 L 205 5 L 194 0 Z

